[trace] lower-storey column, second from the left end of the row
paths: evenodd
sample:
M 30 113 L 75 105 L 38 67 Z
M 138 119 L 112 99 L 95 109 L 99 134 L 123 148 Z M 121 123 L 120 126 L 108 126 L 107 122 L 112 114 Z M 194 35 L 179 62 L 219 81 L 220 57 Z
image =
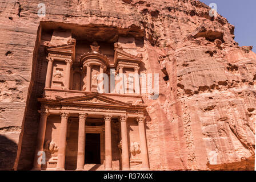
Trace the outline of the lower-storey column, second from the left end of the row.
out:
M 67 119 L 69 113 L 61 114 L 61 131 L 59 133 L 59 151 L 58 151 L 58 162 L 57 170 L 65 170 L 65 155 L 66 155 L 66 139 L 67 139 Z

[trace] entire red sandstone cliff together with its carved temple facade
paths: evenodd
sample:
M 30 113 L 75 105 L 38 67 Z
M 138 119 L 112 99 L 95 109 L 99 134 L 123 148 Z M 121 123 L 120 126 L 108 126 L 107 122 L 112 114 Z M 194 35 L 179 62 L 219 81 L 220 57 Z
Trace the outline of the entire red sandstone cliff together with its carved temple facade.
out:
M 256 55 L 209 11 L 0 0 L 0 170 L 254 170 Z

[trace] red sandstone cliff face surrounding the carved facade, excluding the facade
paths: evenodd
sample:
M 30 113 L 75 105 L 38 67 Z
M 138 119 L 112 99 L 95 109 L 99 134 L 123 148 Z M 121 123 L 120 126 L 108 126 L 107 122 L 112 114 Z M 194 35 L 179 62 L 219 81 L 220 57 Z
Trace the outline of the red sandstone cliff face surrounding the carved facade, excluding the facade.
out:
M 160 74 L 159 98 L 144 97 L 151 169 L 253 170 L 256 54 L 209 11 L 192 0 L 0 1 L 0 169 L 31 168 L 39 121 L 33 109 L 45 82 L 38 70 L 46 69 L 38 60 L 49 39 L 42 27 L 72 27 L 85 39 L 143 38 L 136 44 L 143 72 Z

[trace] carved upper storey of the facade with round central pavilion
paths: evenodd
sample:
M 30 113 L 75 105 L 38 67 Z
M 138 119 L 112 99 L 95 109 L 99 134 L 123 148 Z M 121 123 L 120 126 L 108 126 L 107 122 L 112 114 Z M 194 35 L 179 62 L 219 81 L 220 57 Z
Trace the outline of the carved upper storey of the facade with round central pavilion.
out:
M 51 40 L 43 42 L 48 62 L 45 98 L 72 97 L 82 92 L 141 96 L 142 54 L 133 48 L 134 40 L 77 44 L 71 32 L 54 31 Z

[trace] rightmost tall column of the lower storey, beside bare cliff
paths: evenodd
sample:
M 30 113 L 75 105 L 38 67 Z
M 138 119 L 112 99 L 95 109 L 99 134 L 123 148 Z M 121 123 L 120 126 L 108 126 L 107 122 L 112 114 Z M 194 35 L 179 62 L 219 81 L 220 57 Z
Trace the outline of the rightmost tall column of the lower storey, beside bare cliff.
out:
M 149 154 L 147 153 L 147 140 L 145 131 L 146 117 L 138 117 L 139 138 L 141 139 L 142 170 L 149 170 Z

